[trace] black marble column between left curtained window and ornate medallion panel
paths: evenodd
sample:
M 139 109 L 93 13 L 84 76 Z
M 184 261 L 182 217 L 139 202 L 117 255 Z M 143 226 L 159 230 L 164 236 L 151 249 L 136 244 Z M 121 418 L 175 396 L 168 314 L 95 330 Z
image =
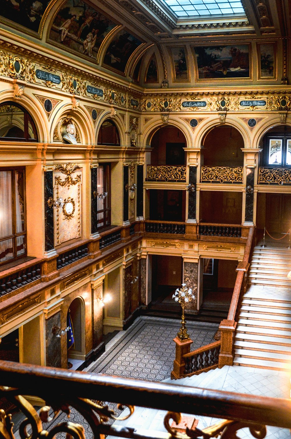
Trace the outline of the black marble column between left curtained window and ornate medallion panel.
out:
M 54 209 L 47 204 L 49 198 L 54 199 L 52 171 L 44 173 L 44 249 L 46 252 L 54 248 Z

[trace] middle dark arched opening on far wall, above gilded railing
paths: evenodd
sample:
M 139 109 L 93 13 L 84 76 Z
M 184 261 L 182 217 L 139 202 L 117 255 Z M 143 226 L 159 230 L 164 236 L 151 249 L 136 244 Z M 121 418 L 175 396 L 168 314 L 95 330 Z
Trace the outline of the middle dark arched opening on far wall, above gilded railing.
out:
M 202 141 L 202 164 L 204 166 L 243 166 L 244 139 L 233 126 L 215 126 Z

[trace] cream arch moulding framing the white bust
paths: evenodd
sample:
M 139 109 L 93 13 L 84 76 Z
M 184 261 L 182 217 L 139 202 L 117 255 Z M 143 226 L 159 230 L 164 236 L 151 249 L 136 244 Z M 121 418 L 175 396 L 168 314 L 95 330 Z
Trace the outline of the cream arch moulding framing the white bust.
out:
M 78 107 L 76 110 L 72 111 L 72 103 L 64 104 L 62 107 L 58 108 L 51 120 L 51 131 L 50 131 L 50 141 L 53 142 L 54 131 L 60 120 L 66 116 L 70 115 L 73 122 L 79 129 L 80 139 L 82 145 L 93 145 L 94 144 L 94 126 L 92 121 L 87 115 L 87 112 L 82 107 Z

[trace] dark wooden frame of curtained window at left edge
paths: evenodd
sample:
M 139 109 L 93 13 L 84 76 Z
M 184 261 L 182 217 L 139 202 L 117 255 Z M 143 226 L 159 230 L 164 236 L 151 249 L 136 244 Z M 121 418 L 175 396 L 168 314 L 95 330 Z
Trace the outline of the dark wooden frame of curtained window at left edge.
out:
M 7 241 L 8 239 L 12 239 L 13 242 L 13 258 L 6 259 L 5 261 L 0 262 L 0 267 L 9 264 L 13 261 L 16 261 L 18 259 L 25 258 L 27 256 L 27 218 L 26 218 L 26 175 L 25 175 L 25 166 L 15 166 L 13 168 L 9 167 L 0 167 L 0 172 L 2 171 L 10 171 L 11 172 L 11 204 L 12 204 L 12 231 L 13 233 L 9 236 L 0 237 L 1 241 Z M 23 195 L 24 195 L 24 230 L 21 232 L 16 233 L 16 203 L 15 203 L 15 172 L 22 171 L 23 172 Z M 24 245 L 25 245 L 25 252 L 21 255 L 17 256 L 17 237 L 23 236 L 24 237 Z M 16 255 L 16 256 L 15 256 Z

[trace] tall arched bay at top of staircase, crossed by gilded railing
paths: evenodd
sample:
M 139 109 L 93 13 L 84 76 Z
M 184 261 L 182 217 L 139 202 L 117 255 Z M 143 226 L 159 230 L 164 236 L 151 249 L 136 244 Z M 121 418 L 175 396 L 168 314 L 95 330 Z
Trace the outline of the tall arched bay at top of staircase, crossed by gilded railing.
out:
M 267 232 L 278 239 L 287 233 L 291 225 L 291 194 L 286 193 L 290 192 L 291 186 L 291 127 L 275 126 L 262 137 L 260 145 L 258 187 L 268 185 L 268 189 L 258 192 L 256 226 L 260 235 L 266 227 Z M 286 247 L 288 239 L 289 236 L 280 239 L 276 245 Z M 272 242 L 268 234 L 266 241 Z

